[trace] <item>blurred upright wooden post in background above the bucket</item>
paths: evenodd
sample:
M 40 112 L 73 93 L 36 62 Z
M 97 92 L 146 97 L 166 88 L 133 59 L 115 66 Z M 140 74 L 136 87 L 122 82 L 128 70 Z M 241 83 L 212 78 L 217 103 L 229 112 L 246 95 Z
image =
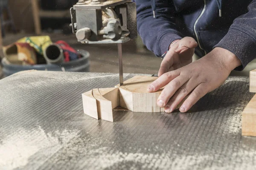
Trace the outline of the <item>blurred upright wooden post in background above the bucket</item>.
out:
M 34 25 L 35 25 L 35 33 L 37 35 L 41 34 L 41 22 L 40 22 L 40 16 L 39 16 L 39 6 L 38 6 L 38 0 L 31 0 L 32 4 L 32 14 L 34 18 Z

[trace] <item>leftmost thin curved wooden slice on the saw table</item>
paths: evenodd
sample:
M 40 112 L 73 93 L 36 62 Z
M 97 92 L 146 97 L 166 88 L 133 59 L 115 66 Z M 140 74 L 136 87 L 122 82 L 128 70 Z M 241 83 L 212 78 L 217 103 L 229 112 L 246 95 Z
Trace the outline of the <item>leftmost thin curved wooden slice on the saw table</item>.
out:
M 96 99 L 93 97 L 92 90 L 83 93 L 82 100 L 83 100 L 84 113 L 95 119 L 99 119 L 97 102 L 96 102 Z

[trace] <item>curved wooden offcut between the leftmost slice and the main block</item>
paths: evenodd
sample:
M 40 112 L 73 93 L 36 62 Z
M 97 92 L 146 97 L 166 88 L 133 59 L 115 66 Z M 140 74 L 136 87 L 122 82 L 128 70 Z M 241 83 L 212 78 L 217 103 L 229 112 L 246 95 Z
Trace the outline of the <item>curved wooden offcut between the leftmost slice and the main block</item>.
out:
M 102 95 L 103 94 L 103 95 Z M 97 102 L 98 116 L 102 120 L 113 122 L 113 108 L 118 103 L 118 88 L 93 89 L 93 97 Z

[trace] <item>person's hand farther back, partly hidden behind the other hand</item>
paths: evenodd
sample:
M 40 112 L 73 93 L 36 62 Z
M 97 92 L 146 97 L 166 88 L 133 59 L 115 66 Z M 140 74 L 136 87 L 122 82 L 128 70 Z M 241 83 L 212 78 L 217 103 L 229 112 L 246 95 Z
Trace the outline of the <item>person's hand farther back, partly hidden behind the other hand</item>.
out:
M 184 37 L 171 44 L 168 53 L 164 57 L 158 77 L 166 72 L 176 70 L 192 62 L 192 56 L 198 43 L 192 37 Z

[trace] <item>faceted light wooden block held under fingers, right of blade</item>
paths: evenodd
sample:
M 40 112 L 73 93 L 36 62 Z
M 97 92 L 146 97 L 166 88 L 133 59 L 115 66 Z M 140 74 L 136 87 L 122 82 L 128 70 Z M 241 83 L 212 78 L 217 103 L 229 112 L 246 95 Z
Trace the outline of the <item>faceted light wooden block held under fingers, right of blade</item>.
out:
M 120 87 L 116 85 L 116 87 L 119 87 L 120 106 L 134 112 L 163 112 L 164 108 L 157 106 L 157 99 L 163 88 L 153 93 L 148 93 L 147 91 L 148 85 L 157 78 L 158 77 L 135 76 L 126 80 Z M 177 108 L 179 108 L 180 105 L 178 105 Z

